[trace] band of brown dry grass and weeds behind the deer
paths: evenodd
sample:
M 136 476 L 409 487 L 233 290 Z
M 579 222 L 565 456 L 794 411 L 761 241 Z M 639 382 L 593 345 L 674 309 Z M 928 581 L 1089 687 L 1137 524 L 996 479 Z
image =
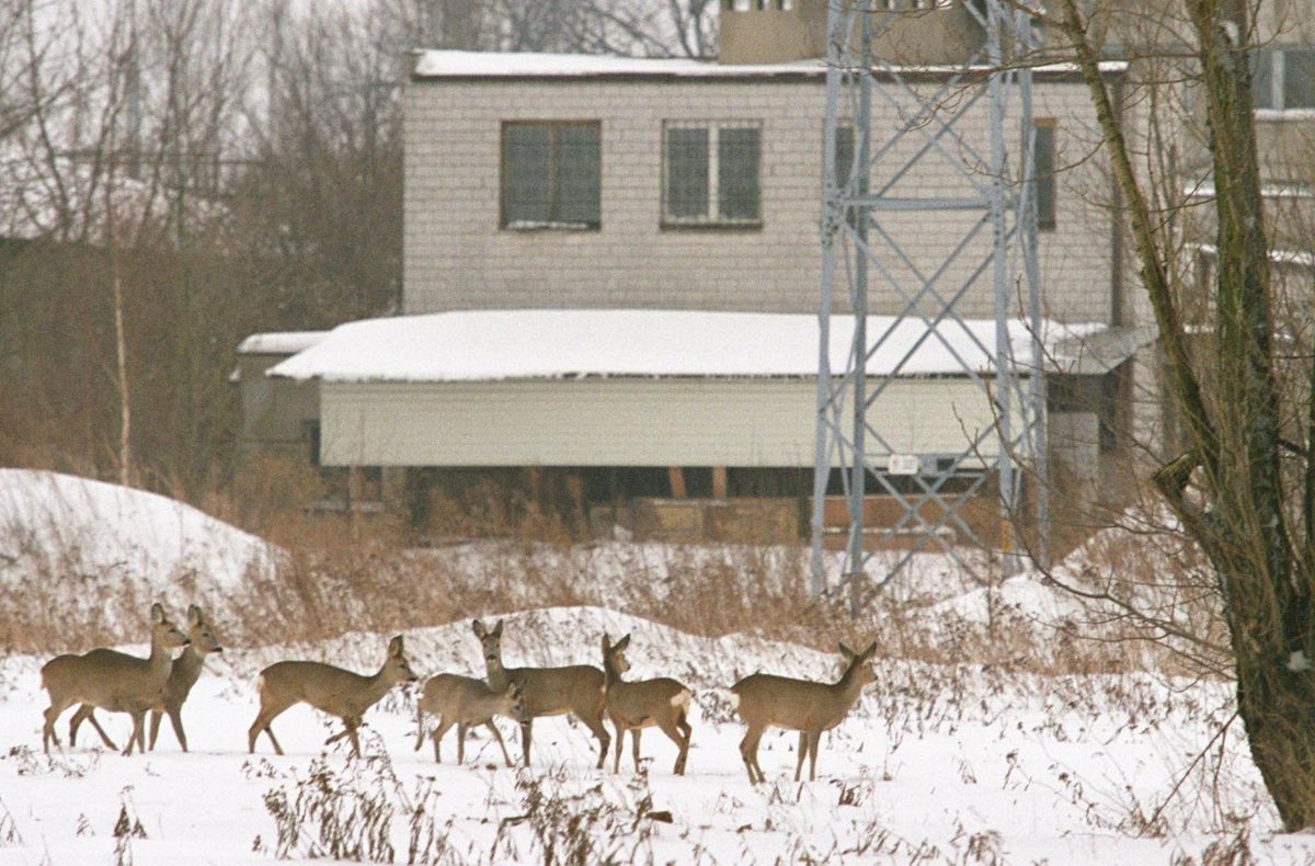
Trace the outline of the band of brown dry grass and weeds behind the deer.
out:
M 988 580 L 981 584 L 990 613 L 985 621 L 953 611 L 931 613 L 928 605 L 947 598 L 935 590 L 878 595 L 855 617 L 846 605 L 809 594 L 807 550 L 794 541 L 580 542 L 577 528 L 533 497 L 476 488 L 433 509 L 466 540 L 422 549 L 409 546 L 396 519 L 308 513 L 300 503 L 314 496 L 317 483 L 305 470 L 263 463 L 227 496 L 201 503 L 212 515 L 277 544 L 287 557 L 277 571 L 252 570 L 241 592 L 197 595 L 187 591 L 184 579 L 167 603 L 201 600 L 234 646 L 600 605 L 711 637 L 739 632 L 823 650 L 838 640 L 876 640 L 888 657 L 935 663 L 968 661 L 1034 673 L 1224 670 L 1216 657 L 1202 662 L 1199 644 L 1165 641 L 1157 630 L 1168 617 L 1190 625 L 1207 644 L 1219 634 L 1198 565 L 1172 541 L 1131 544 L 1137 536 L 1130 533 L 1090 544 L 1082 575 L 1056 574 L 1061 583 L 1098 596 L 1084 616 L 1036 621 L 1027 611 L 995 605 L 998 582 Z M 1149 528 L 1141 530 L 1151 537 Z M 1155 534 L 1161 542 L 1168 537 Z M 0 649 L 80 651 L 141 640 L 154 600 L 142 583 L 79 575 L 70 567 L 76 551 L 39 553 L 38 574 L 0 596 Z M 1151 616 L 1132 616 L 1132 608 Z

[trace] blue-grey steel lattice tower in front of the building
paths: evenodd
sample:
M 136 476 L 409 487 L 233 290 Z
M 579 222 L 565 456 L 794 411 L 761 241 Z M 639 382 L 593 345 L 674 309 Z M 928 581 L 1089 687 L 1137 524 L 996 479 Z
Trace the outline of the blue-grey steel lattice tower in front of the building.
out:
M 953 1 L 964 4 L 982 38 L 963 62 L 934 70 L 874 51 L 901 14 L 886 9 L 885 0 L 830 0 L 828 8 L 813 590 L 840 588 L 827 586 L 825 569 L 825 496 L 832 470 L 840 470 L 848 511 L 840 583 L 855 608 L 928 546 L 965 566 L 944 530 L 977 541 L 960 512 L 989 480 L 999 491 L 1005 574 L 1019 567 L 1013 521 L 1027 471 L 1038 475 L 1028 487 L 1038 536 L 1044 540 L 1047 533 L 1045 379 L 1040 363 L 1032 362 L 1041 358 L 1032 72 L 1024 62 L 1035 46 L 1034 24 L 1005 0 Z M 874 105 L 884 112 L 881 129 L 874 129 Z M 849 170 L 838 178 L 838 143 L 847 128 L 852 129 Z M 919 186 L 917 178 L 928 171 L 948 172 L 942 176 L 953 178 L 953 195 Z M 930 263 L 924 250 L 919 255 L 910 249 L 909 233 L 899 228 L 901 221 L 906 228 L 909 220 L 927 215 L 939 215 L 951 236 L 942 261 Z M 877 333 L 869 333 L 872 278 L 886 292 L 882 312 L 894 315 L 893 324 L 880 320 Z M 838 312 L 842 292 L 849 304 Z M 965 299 L 981 304 L 982 292 L 994 299 L 994 346 L 973 337 L 961 315 Z M 840 316 L 852 316 L 853 324 L 843 370 L 832 369 L 831 351 L 832 320 Z M 919 334 L 913 347 L 893 369 L 869 371 L 868 362 L 882 349 L 889 353 L 896 332 L 907 336 L 910 325 Z M 1014 357 L 1020 328 L 1031 334 L 1028 341 L 1024 332 L 1031 351 L 1022 359 Z M 963 345 L 960 334 L 992 358 L 993 371 L 984 374 L 963 357 L 956 349 Z M 959 453 L 917 454 L 917 471 L 897 483 L 890 471 L 892 437 L 874 407 L 923 344 L 939 344 L 961 365 L 963 375 L 992 401 L 995 424 L 965 437 Z M 902 515 L 880 534 L 865 534 L 865 495 L 873 483 L 899 504 Z M 924 509 L 939 516 L 928 519 Z M 865 542 L 885 546 L 897 534 L 911 541 L 907 551 L 884 575 L 868 575 L 872 554 Z

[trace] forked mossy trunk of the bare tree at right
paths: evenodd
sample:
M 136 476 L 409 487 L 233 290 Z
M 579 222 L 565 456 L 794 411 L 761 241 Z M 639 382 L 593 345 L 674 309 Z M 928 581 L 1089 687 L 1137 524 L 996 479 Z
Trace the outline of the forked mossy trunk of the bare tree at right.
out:
M 1098 109 L 1169 362 L 1172 399 L 1187 428 L 1187 453 L 1162 466 L 1155 480 L 1215 569 L 1237 676 L 1237 708 L 1252 758 L 1283 825 L 1298 830 L 1315 825 L 1315 684 L 1308 661 L 1315 621 L 1311 520 L 1306 520 L 1304 533 L 1294 532 L 1287 520 L 1310 513 L 1311 503 L 1301 497 L 1315 490 L 1315 475 L 1308 450 L 1312 442 L 1304 449 L 1291 446 L 1303 462 L 1303 484 L 1285 490 L 1285 408 L 1274 371 L 1269 242 L 1248 66 L 1251 5 L 1243 0 L 1185 0 L 1206 97 L 1218 221 L 1219 334 L 1208 390 L 1193 370 L 1176 286 L 1164 267 L 1166 245 L 1178 238 L 1151 218 L 1076 0 L 1064 0 L 1060 26 L 1072 39 Z M 1312 392 L 1304 399 L 1315 396 Z M 1308 417 L 1315 434 L 1315 415 Z M 1294 499 L 1297 508 L 1290 504 Z

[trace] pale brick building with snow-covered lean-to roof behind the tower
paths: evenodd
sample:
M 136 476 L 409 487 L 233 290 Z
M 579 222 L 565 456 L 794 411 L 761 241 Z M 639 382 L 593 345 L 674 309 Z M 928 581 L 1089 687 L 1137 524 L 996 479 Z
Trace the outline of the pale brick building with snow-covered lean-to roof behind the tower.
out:
M 722 62 L 414 55 L 404 316 L 343 325 L 270 371 L 318 388 L 318 461 L 405 476 L 413 492 L 454 474 L 537 467 L 564 476 L 585 511 L 646 496 L 803 503 L 815 457 L 826 3 L 760 5 L 722 11 Z M 945 86 L 981 36 L 970 18 L 956 0 L 894 22 L 888 32 L 918 46 L 918 64 L 888 74 Z M 1103 72 L 1116 80 L 1124 66 Z M 1047 363 L 1073 341 L 1099 345 L 1064 355 L 1055 451 L 1090 467 L 1116 458 L 1140 344 L 1127 328 L 1114 215 L 1093 204 L 1114 195 L 1085 159 L 1097 125 L 1086 86 L 1066 66 L 1039 67 L 1034 80 Z M 957 122 L 985 142 L 978 76 L 964 87 Z M 898 101 L 873 111 L 874 128 L 910 122 Z M 906 136 L 890 165 L 874 162 L 872 187 L 972 193 L 973 154 L 892 167 L 923 146 Z M 842 125 L 838 174 L 852 151 Z M 1077 167 L 1055 171 L 1066 165 Z M 994 447 L 984 432 L 994 422 L 995 297 L 980 267 L 993 240 L 980 220 L 910 211 L 884 222 L 909 257 L 884 262 L 892 279 L 873 280 L 869 325 L 906 311 L 896 284 L 931 274 L 963 286 L 956 309 L 968 320 L 934 334 L 906 321 L 909 357 L 872 361 L 898 374 L 869 411 L 896 420 L 893 453 L 935 462 L 972 442 Z M 1028 342 L 1026 329 L 1013 337 Z M 998 505 L 988 511 L 998 517 Z

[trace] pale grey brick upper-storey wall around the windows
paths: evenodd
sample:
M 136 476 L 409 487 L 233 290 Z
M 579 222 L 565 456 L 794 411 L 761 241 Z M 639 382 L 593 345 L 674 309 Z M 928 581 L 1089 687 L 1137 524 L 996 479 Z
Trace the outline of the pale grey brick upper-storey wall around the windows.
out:
M 939 80 L 927 82 L 938 87 Z M 948 105 L 963 104 L 957 93 Z M 1047 315 L 1111 320 L 1111 217 L 1094 115 L 1073 76 L 1038 75 L 1035 115 L 1059 122 L 1059 229 L 1040 238 Z M 876 100 L 874 130 L 898 124 Z M 821 75 L 757 78 L 575 78 L 413 80 L 405 105 L 405 296 L 408 313 L 471 308 L 638 307 L 811 312 L 821 284 Z M 508 120 L 597 120 L 602 138 L 600 230 L 506 230 L 500 220 L 500 134 Z M 763 226 L 755 230 L 660 226 L 664 120 L 755 120 L 763 124 Z M 986 100 L 965 118 L 989 151 Z M 935 124 L 909 132 L 877 166 L 873 183 L 927 143 Z M 877 133 L 880 136 L 880 133 Z M 892 195 L 963 196 L 985 183 L 973 154 L 943 147 Z M 899 213 L 892 236 L 931 274 L 945 265 L 980 212 Z M 947 266 L 942 292 L 978 270 L 990 243 L 981 232 Z M 920 283 L 894 255 L 889 274 L 907 293 Z M 968 291 L 960 313 L 993 316 L 990 268 Z M 896 313 L 905 296 L 881 274 L 871 286 L 873 313 Z M 838 309 L 844 300 L 838 299 Z

